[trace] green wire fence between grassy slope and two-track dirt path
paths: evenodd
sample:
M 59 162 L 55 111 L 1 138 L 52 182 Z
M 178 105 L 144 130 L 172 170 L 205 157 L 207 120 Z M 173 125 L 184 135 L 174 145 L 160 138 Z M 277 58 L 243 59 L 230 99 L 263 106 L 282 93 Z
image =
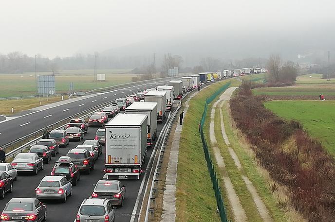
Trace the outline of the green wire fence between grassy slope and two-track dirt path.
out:
M 221 218 L 221 222 L 228 222 L 227 219 L 227 207 L 224 206 L 224 201 L 223 201 L 223 196 L 221 194 L 221 188 L 219 186 L 219 180 L 217 178 L 216 172 L 214 170 L 214 165 L 213 165 L 213 161 L 211 159 L 210 153 L 209 153 L 209 149 L 205 140 L 205 136 L 204 136 L 204 132 L 203 132 L 203 127 L 205 124 L 205 119 L 206 119 L 206 113 L 207 113 L 207 106 L 209 103 L 213 102 L 213 100 L 220 95 L 224 90 L 226 90 L 230 85 L 230 82 L 223 85 L 219 90 L 217 90 L 213 95 L 211 95 L 209 98 L 206 99 L 206 103 L 205 103 L 205 109 L 204 109 L 204 113 L 203 116 L 201 118 L 201 123 L 200 123 L 200 136 L 201 136 L 201 140 L 203 142 L 203 147 L 204 147 L 204 152 L 205 152 L 205 159 L 207 162 L 207 168 L 209 171 L 209 175 L 213 184 L 213 189 L 214 189 L 214 193 L 215 193 L 215 198 L 216 198 L 216 202 L 217 202 L 217 211 L 220 214 L 220 218 Z

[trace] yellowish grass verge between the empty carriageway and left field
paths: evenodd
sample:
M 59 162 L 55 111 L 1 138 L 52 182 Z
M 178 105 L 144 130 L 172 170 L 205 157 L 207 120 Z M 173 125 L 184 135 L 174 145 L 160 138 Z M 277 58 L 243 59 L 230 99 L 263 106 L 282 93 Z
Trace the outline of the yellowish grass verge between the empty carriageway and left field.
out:
M 68 96 L 64 96 L 64 100 L 66 100 Z M 41 99 L 41 98 L 40 98 Z M 0 114 L 1 115 L 11 115 L 15 114 L 24 110 L 29 110 L 32 108 L 35 108 L 39 106 L 39 101 L 41 101 L 41 105 L 47 105 L 52 102 L 59 102 L 62 100 L 61 96 L 57 97 L 49 97 L 44 98 L 42 101 L 38 98 L 32 98 L 32 99 L 22 99 L 22 100 L 0 100 Z M 12 113 L 12 107 L 14 108 L 14 113 Z

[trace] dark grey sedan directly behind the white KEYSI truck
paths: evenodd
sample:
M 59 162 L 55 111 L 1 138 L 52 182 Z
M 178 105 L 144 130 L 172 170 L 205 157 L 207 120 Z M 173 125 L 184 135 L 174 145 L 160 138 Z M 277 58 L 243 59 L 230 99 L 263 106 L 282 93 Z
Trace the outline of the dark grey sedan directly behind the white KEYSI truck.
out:
M 111 201 L 112 205 L 123 206 L 126 196 L 126 188 L 118 180 L 99 180 L 93 184 L 94 189 L 92 198 L 106 198 Z

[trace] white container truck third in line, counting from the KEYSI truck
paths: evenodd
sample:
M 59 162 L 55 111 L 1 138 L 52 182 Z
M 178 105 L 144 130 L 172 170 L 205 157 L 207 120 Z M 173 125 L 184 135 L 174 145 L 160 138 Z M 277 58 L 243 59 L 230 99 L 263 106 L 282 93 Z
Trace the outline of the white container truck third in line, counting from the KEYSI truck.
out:
M 167 110 L 167 92 L 148 92 L 144 95 L 144 102 L 157 102 L 157 121 L 163 122 Z

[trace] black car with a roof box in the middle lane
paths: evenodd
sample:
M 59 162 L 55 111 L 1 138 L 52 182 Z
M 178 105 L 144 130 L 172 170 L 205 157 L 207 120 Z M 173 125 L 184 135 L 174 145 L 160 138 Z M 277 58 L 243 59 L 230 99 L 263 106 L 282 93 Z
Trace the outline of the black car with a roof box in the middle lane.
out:
M 61 156 L 55 163 L 54 169 L 51 171 L 52 176 L 65 176 L 70 180 L 73 186 L 77 185 L 80 180 L 80 173 L 77 166 L 69 156 Z

